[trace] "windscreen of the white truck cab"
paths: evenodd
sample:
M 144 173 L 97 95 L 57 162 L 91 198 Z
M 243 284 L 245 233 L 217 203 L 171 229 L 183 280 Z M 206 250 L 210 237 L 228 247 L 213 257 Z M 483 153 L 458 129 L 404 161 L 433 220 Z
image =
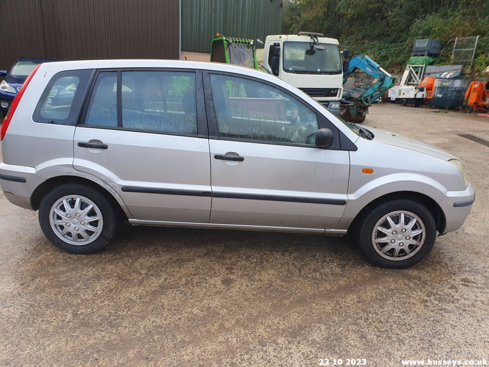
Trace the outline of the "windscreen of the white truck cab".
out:
M 320 45 L 324 50 L 315 49 L 312 42 L 284 42 L 284 71 L 298 74 L 341 73 L 339 46 Z

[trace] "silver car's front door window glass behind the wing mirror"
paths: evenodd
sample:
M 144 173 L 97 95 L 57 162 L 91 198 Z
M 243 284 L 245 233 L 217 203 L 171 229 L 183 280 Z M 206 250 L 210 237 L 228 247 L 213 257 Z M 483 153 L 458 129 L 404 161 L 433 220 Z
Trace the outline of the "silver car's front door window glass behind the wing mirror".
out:
M 315 143 L 317 115 L 267 84 L 210 74 L 220 137 L 293 144 Z

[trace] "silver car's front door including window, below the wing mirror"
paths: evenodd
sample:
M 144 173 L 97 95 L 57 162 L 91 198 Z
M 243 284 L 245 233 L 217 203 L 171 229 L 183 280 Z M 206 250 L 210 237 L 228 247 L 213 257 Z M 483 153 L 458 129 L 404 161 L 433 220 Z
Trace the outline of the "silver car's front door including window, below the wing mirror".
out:
M 211 223 L 334 229 L 347 202 L 349 152 L 331 122 L 286 90 L 204 71 Z M 317 147 L 328 127 L 333 145 Z

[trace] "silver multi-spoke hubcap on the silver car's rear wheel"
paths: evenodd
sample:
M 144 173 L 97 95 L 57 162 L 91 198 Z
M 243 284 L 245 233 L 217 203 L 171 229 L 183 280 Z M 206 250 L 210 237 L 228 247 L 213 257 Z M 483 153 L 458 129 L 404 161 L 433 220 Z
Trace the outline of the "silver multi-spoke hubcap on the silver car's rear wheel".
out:
M 65 196 L 54 203 L 49 219 L 54 233 L 72 245 L 95 241 L 104 224 L 100 209 L 79 195 Z

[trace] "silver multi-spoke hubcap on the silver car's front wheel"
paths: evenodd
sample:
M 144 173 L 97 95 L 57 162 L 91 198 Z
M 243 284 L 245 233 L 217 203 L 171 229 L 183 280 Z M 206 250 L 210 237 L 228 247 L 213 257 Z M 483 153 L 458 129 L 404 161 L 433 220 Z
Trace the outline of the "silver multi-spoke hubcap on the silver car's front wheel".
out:
M 404 260 L 420 251 L 425 238 L 424 224 L 409 211 L 393 211 L 375 225 L 372 244 L 389 260 Z

